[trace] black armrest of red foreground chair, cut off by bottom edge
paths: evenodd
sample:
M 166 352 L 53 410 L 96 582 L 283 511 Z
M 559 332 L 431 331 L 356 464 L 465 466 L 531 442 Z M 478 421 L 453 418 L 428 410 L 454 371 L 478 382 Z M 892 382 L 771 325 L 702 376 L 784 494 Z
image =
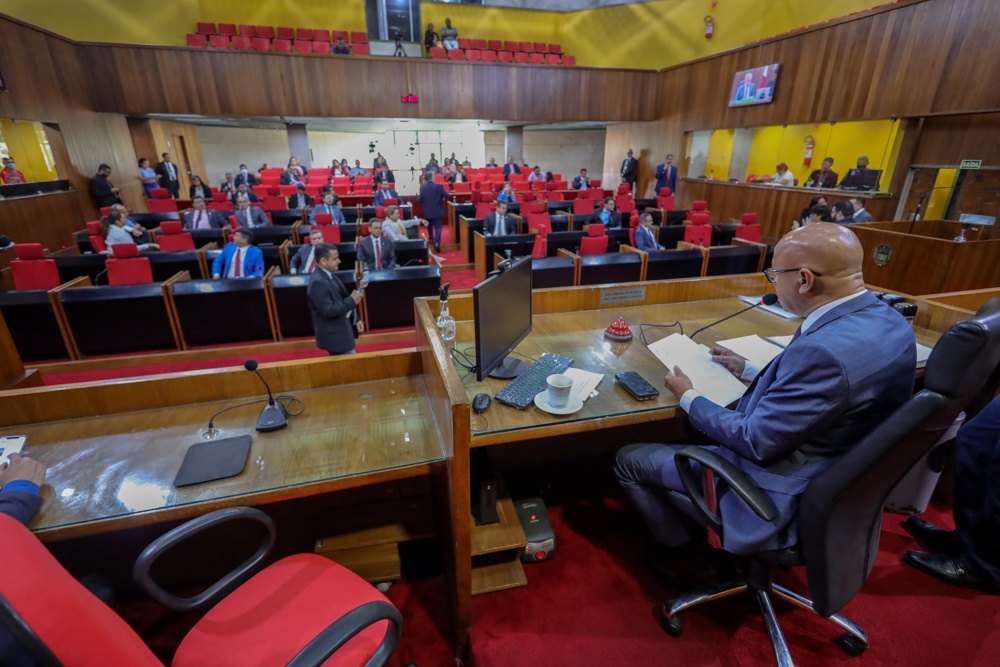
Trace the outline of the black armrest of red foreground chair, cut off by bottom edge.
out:
M 399 643 L 403 618 L 400 616 L 399 610 L 388 602 L 379 600 L 366 602 L 328 625 L 301 651 L 296 653 L 286 667 L 319 667 L 355 635 L 379 621 L 389 621 L 389 629 L 386 631 L 382 643 L 379 644 L 378 650 L 375 651 L 375 655 L 369 659 L 366 665 L 384 665 Z

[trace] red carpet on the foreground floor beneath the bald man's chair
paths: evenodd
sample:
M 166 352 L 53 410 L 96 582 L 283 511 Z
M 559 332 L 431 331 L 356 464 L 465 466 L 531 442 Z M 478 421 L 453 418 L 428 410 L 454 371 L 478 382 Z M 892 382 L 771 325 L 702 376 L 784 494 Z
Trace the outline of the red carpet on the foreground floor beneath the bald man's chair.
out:
M 773 667 L 774 656 L 756 604 L 748 597 L 717 601 L 684 614 L 684 634 L 671 638 L 653 610 L 671 591 L 648 574 L 641 526 L 611 477 L 609 459 L 565 464 L 508 476 L 553 483 L 543 492 L 557 537 L 551 561 L 525 566 L 528 586 L 473 600 L 473 663 L 479 667 L 558 665 L 680 665 Z M 523 473 L 523 471 L 522 471 Z M 562 481 L 566 480 L 566 481 Z M 539 485 L 542 486 L 542 485 Z M 927 515 L 944 523 L 948 512 Z M 871 648 L 849 658 L 832 640 L 826 621 L 785 604 L 778 614 L 796 664 L 857 667 L 986 667 L 1000 655 L 1000 597 L 950 588 L 902 565 L 913 548 L 899 522 L 886 515 L 878 561 L 868 585 L 844 610 L 868 632 Z M 804 591 L 801 575 L 784 583 Z M 453 665 L 446 637 L 447 605 L 441 577 L 400 581 L 388 593 L 403 613 L 403 638 L 389 663 Z M 120 605 L 126 617 L 169 657 L 192 622 L 154 603 Z

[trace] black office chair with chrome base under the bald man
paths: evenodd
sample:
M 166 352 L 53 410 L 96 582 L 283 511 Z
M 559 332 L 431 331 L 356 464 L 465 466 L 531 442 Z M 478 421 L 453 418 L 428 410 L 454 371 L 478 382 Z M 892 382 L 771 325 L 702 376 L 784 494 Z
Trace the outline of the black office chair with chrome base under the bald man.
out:
M 660 623 L 676 637 L 677 614 L 702 602 L 750 591 L 764 615 L 778 664 L 793 665 L 771 593 L 827 618 L 847 632 L 836 639 L 850 655 L 868 648 L 864 629 L 837 612 L 864 586 L 875 565 L 882 506 L 893 488 L 938 441 L 941 434 L 983 389 L 1000 362 L 1000 298 L 983 305 L 975 317 L 951 327 L 938 341 L 924 372 L 924 388 L 861 442 L 812 480 L 799 507 L 799 541 L 776 551 L 748 557 L 747 578 L 711 591 L 683 595 L 663 603 Z M 710 508 L 705 480 L 692 462 L 712 470 L 717 492 L 728 488 L 765 521 L 777 515 L 768 494 L 729 461 L 698 447 L 675 455 L 687 493 L 710 530 L 720 536 L 725 519 Z M 804 565 L 809 600 L 772 580 L 779 565 Z

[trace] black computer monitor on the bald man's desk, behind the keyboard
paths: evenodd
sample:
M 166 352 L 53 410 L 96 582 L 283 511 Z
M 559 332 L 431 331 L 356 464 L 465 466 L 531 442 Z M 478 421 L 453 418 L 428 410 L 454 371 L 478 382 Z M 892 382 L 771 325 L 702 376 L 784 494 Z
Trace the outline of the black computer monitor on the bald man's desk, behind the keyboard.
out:
M 531 333 L 531 258 L 515 260 L 510 268 L 472 288 L 476 326 L 476 379 L 509 379 L 528 369 L 508 357 Z

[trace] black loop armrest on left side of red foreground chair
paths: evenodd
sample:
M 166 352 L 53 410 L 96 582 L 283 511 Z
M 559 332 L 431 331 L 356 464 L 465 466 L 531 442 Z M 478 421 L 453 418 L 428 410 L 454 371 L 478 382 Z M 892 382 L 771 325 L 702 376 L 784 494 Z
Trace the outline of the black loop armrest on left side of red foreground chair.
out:
M 250 556 L 250 558 L 237 566 L 236 569 L 226 574 L 222 577 L 222 579 L 212 584 L 198 595 L 189 598 L 180 598 L 175 595 L 171 595 L 163 590 L 159 584 L 153 581 L 153 578 L 150 575 L 150 570 L 152 570 L 153 564 L 156 560 L 164 553 L 173 549 L 189 537 L 197 535 L 208 528 L 212 528 L 221 523 L 228 523 L 230 521 L 237 520 L 256 521 L 264 526 L 267 530 L 267 535 L 265 535 L 265 538 L 260 547 L 257 548 L 257 551 Z M 146 593 L 146 595 L 153 598 L 168 609 L 182 612 L 208 609 L 219 602 L 222 598 L 239 588 L 243 585 L 243 583 L 249 580 L 250 577 L 262 569 L 264 559 L 267 558 L 267 555 L 271 552 L 271 548 L 274 546 L 274 539 L 274 521 L 271 520 L 271 517 L 264 514 L 260 510 L 253 509 L 251 507 L 230 507 L 216 512 L 210 512 L 209 514 L 205 514 L 177 526 L 165 535 L 154 540 L 152 544 L 143 549 L 142 553 L 139 554 L 139 558 L 135 561 L 135 567 L 132 568 L 132 578 L 135 580 L 136 585 L 138 585 L 139 588 Z

